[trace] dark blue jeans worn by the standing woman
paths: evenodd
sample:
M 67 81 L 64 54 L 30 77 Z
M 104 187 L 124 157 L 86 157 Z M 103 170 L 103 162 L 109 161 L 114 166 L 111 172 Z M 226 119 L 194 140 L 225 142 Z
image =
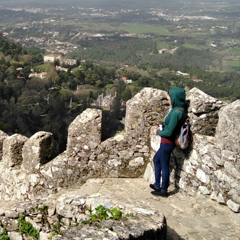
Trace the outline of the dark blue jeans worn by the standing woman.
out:
M 169 186 L 169 161 L 170 156 L 175 148 L 175 144 L 161 143 L 160 148 L 156 152 L 153 163 L 155 168 L 155 183 L 156 188 L 161 187 L 161 192 L 167 193 Z M 162 184 L 160 185 L 160 179 L 162 177 Z

